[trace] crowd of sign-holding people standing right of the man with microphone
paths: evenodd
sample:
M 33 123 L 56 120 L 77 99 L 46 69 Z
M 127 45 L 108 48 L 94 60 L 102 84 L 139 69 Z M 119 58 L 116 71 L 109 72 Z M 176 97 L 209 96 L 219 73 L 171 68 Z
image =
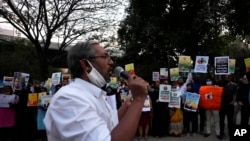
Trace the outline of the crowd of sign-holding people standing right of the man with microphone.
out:
M 230 138 L 233 134 L 232 128 L 237 122 L 237 114 L 240 111 L 240 125 L 248 125 L 250 117 L 250 85 L 248 80 L 250 80 L 250 72 L 247 72 L 237 82 L 233 82 L 235 80 L 233 75 L 223 75 L 220 79 L 213 75 L 208 75 L 205 78 L 188 76 L 186 81 L 184 80 L 185 78 L 180 77 L 177 81 L 172 82 L 167 79 L 152 82 L 148 91 L 151 111 L 142 111 L 137 132 L 138 140 L 143 139 L 143 137 L 147 140 L 148 135 L 154 137 L 189 137 L 200 134 L 209 137 L 211 130 L 215 131 L 219 140 Z M 112 91 L 118 97 L 117 108 L 122 104 L 119 97 L 121 91 L 126 88 L 125 84 L 122 83 L 118 90 Z M 159 101 L 159 86 L 161 84 L 171 85 L 172 91 L 181 91 L 181 108 L 170 108 L 167 102 Z M 199 94 L 201 86 L 223 88 L 219 108 L 204 109 L 198 107 L 197 111 L 185 110 L 183 107 L 186 93 Z M 228 133 L 225 133 L 225 125 L 227 125 Z M 212 127 L 214 129 L 211 129 Z

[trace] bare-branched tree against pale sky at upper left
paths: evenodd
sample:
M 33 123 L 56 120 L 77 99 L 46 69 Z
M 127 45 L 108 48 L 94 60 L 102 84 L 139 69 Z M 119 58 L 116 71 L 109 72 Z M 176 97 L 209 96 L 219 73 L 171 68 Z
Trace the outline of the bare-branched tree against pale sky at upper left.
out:
M 35 46 L 43 79 L 48 68 L 62 54 L 48 56 L 52 39 L 59 52 L 82 35 L 117 24 L 122 0 L 2 0 L 0 16 Z

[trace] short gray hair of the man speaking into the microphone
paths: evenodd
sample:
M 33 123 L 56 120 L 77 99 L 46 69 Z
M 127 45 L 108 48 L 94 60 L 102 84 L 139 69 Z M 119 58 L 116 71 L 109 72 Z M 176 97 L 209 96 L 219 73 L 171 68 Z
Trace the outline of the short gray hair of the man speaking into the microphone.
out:
M 93 44 L 99 43 L 97 41 L 78 42 L 68 51 L 68 68 L 72 78 L 80 77 L 84 72 L 79 60 L 88 59 L 95 55 L 96 51 L 92 48 Z

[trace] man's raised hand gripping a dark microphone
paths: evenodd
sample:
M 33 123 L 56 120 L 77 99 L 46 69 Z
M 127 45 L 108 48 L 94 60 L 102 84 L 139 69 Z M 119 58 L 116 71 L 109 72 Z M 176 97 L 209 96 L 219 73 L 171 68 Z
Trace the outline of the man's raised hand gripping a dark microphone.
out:
M 136 75 L 130 75 L 122 67 L 117 66 L 114 69 L 114 74 L 117 77 L 122 77 L 128 81 L 128 87 L 131 90 L 133 99 L 145 100 L 148 93 L 149 84 L 144 79 Z

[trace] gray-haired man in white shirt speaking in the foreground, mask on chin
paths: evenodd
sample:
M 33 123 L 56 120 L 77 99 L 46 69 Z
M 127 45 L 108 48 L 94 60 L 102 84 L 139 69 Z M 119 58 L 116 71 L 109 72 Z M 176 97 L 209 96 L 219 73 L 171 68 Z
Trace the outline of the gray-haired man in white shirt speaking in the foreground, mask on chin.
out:
M 148 83 L 129 76 L 133 102 L 117 111 L 101 88 L 109 81 L 113 61 L 98 42 L 79 42 L 68 52 L 74 79 L 52 98 L 44 118 L 48 141 L 133 140 L 147 96 Z

